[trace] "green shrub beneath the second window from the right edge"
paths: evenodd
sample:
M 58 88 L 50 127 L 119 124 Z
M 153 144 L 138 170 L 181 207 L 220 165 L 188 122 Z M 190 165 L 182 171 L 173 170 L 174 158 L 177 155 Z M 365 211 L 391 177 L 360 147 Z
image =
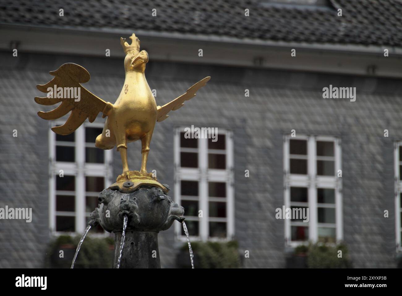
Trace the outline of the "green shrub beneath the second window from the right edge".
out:
M 338 251 L 342 251 L 342 258 L 338 257 Z M 347 247 L 344 244 L 326 246 L 322 244 L 310 244 L 308 246 L 307 266 L 309 268 L 351 268 Z

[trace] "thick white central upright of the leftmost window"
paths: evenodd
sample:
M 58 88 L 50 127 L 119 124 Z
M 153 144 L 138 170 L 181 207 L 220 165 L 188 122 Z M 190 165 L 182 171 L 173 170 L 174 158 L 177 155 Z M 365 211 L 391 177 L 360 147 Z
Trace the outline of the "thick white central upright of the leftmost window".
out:
M 84 164 L 85 164 L 85 128 L 80 126 L 76 130 L 76 166 L 78 168 L 76 173 L 76 232 L 84 232 L 85 226 L 85 174 L 84 174 Z

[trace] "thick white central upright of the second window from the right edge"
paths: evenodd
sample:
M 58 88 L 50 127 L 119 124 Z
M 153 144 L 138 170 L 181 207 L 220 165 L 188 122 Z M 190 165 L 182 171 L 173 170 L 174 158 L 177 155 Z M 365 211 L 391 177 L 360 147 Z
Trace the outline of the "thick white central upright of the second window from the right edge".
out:
M 315 137 L 308 138 L 308 176 L 309 176 L 309 184 L 308 184 L 308 207 L 310 221 L 309 223 L 309 239 L 313 242 L 316 242 L 318 239 L 318 229 L 317 229 L 317 185 L 316 185 L 316 177 L 317 177 L 317 158 L 316 158 L 316 139 Z

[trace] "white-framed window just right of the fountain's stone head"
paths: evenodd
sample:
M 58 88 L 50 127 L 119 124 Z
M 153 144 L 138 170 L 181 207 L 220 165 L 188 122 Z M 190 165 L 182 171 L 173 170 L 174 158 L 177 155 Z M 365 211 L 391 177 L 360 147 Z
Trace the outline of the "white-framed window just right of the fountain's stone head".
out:
M 217 141 L 174 137 L 175 201 L 185 209 L 190 236 L 200 240 L 234 235 L 232 132 L 218 129 Z M 185 236 L 180 225 L 176 235 Z

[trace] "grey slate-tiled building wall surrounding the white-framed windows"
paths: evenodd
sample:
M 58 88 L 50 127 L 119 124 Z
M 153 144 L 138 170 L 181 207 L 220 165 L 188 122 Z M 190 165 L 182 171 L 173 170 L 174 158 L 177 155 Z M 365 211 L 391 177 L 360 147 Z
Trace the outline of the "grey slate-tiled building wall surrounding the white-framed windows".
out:
M 0 207 L 32 207 L 33 221 L 0 221 L 0 267 L 42 267 L 48 230 L 48 123 L 35 85 L 64 62 L 86 67 L 90 91 L 114 102 L 123 85 L 123 62 L 112 58 L 20 54 L 0 66 Z M 158 179 L 174 184 L 176 126 L 210 126 L 234 132 L 235 239 L 250 251 L 245 267 L 285 267 L 283 135 L 329 135 L 342 141 L 344 238 L 355 267 L 395 267 L 394 142 L 402 139 L 400 80 L 347 75 L 150 62 L 146 76 L 163 105 L 211 75 L 207 87 L 164 122 L 157 123 L 148 161 Z M 323 99 L 330 84 L 357 87 L 357 99 Z M 250 97 L 244 90 L 250 90 Z M 12 137 L 12 130 L 18 137 Z M 384 137 L 384 129 L 389 137 Z M 140 144 L 128 149 L 131 169 L 140 165 Z M 121 173 L 114 151 L 114 175 Z M 250 177 L 244 177 L 244 170 Z M 173 193 L 170 194 L 173 197 Z M 384 209 L 390 212 L 384 218 Z M 159 235 L 162 267 L 174 267 L 173 228 Z

